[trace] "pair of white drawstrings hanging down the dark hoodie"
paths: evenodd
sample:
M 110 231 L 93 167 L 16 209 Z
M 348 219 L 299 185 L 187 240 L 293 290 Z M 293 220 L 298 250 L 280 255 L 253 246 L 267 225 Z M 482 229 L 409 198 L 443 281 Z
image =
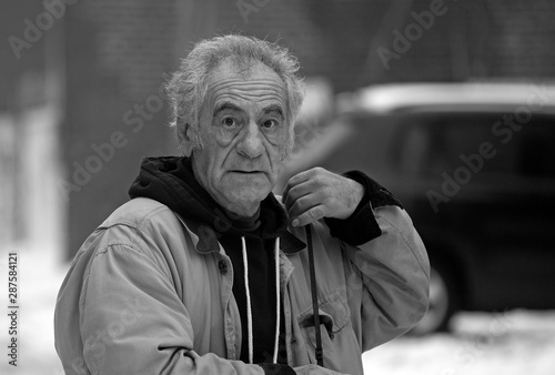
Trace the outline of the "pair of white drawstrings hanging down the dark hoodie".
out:
M 251 305 L 251 290 L 249 288 L 249 262 L 246 259 L 246 241 L 241 236 L 241 249 L 243 253 L 243 268 L 244 268 L 244 290 L 246 295 L 246 332 L 249 341 L 249 363 L 253 363 L 253 334 L 252 334 L 252 305 Z M 280 344 L 280 315 L 281 315 L 281 298 L 280 298 L 280 237 L 275 239 L 274 247 L 274 265 L 275 265 L 275 339 L 274 339 L 274 354 L 273 363 L 278 363 L 278 347 Z

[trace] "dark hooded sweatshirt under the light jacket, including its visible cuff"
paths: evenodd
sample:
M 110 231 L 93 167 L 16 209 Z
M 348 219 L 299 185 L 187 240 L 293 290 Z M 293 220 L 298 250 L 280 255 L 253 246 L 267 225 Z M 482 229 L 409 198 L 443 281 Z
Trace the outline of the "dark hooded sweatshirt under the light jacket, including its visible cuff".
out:
M 401 203 L 385 189 L 365 174 L 353 171 L 345 174 L 364 185 L 365 194 L 355 212 L 347 220 L 326 219 L 331 234 L 352 245 L 365 243 L 381 234 L 374 219 L 373 206 Z M 305 244 L 286 231 L 287 216 L 275 196 L 270 193 L 261 202 L 259 212 L 251 219 L 241 219 L 219 205 L 195 180 L 191 160 L 178 156 L 147 158 L 141 164 L 139 176 L 132 183 L 129 195 L 150 197 L 169 206 L 194 226 L 208 224 L 214 229 L 218 241 L 233 264 L 233 295 L 241 316 L 241 361 L 249 362 L 246 294 L 241 237 L 248 250 L 249 286 L 252 308 L 253 363 L 260 364 L 266 373 L 295 374 L 285 365 L 283 348 L 278 365 L 272 365 L 275 334 L 275 271 L 274 244 L 279 236 L 296 247 Z M 281 320 L 283 322 L 283 318 Z M 283 325 L 281 326 L 283 336 Z M 280 341 L 281 342 L 281 341 Z

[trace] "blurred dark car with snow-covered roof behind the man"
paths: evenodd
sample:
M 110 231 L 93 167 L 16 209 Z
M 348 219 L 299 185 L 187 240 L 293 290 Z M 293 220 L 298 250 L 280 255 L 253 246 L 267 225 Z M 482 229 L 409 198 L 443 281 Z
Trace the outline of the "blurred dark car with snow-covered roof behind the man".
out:
M 370 87 L 296 133 L 281 186 L 315 165 L 357 169 L 410 213 L 432 265 L 414 333 L 460 310 L 555 308 L 555 87 Z

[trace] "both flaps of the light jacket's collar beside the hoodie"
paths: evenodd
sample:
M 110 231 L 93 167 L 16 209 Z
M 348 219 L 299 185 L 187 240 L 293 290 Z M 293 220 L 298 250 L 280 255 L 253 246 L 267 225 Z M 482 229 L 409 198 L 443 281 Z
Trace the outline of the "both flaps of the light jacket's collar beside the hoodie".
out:
M 218 235 L 211 226 L 192 219 L 182 217 L 178 213 L 175 215 L 189 234 L 191 234 L 196 252 L 201 254 L 220 252 Z M 306 249 L 306 244 L 294 234 L 284 231 L 280 234 L 280 249 L 283 253 L 290 255 Z

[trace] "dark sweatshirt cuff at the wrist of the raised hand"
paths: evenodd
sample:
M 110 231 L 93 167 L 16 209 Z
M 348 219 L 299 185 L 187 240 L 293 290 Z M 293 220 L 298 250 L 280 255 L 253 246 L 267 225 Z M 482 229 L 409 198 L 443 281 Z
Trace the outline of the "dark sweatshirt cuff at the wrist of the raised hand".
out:
M 324 221 L 332 236 L 350 245 L 359 246 L 382 234 L 373 209 L 392 204 L 402 207 L 402 204 L 390 191 L 361 171 L 350 171 L 343 175 L 362 184 L 364 195 L 356 210 L 347 219 L 325 217 Z

